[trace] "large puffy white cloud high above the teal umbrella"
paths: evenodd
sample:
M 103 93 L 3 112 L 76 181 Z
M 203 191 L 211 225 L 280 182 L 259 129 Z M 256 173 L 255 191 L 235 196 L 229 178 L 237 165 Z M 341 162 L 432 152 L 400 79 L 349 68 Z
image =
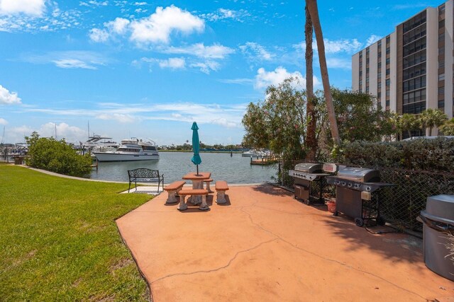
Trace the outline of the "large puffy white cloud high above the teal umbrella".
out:
M 204 28 L 204 21 L 188 11 L 173 5 L 166 8 L 159 6 L 149 17 L 131 22 L 131 40 L 138 45 L 158 42 L 167 44 L 174 32 L 190 34 L 201 32 Z

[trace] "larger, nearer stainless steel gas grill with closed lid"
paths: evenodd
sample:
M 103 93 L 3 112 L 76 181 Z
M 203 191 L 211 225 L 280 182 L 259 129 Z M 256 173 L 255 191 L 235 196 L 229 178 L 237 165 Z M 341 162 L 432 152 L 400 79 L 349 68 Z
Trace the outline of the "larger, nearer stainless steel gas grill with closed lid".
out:
M 380 216 L 380 189 L 392 184 L 380 182 L 380 171 L 364 168 L 339 168 L 337 176 L 326 178 L 329 185 L 336 185 L 336 213 L 341 212 L 355 219 L 357 226 L 375 219 L 384 225 Z

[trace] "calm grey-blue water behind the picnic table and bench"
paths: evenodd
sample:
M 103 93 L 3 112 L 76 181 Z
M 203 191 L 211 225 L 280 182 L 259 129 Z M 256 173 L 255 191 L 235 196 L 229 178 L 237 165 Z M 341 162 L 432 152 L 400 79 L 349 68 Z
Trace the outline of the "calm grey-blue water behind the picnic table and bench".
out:
M 213 180 L 226 180 L 229 183 L 258 183 L 271 181 L 276 177 L 277 168 L 273 165 L 250 165 L 250 158 L 240 153 L 200 153 L 200 172 L 211 172 Z M 128 170 L 149 168 L 164 174 L 165 183 L 181 180 L 188 172 L 196 170 L 189 152 L 160 152 L 159 161 L 130 161 L 99 163 L 90 178 L 96 180 L 128 181 Z

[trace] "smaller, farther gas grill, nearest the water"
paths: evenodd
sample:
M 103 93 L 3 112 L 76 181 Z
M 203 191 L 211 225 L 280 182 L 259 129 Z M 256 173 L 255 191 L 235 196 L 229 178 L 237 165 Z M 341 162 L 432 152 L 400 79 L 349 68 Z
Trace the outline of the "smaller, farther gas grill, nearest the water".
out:
M 325 177 L 336 173 L 337 165 L 333 163 L 299 163 L 289 175 L 294 178 L 295 198 L 302 199 L 305 204 L 311 202 L 323 204 L 323 187 Z

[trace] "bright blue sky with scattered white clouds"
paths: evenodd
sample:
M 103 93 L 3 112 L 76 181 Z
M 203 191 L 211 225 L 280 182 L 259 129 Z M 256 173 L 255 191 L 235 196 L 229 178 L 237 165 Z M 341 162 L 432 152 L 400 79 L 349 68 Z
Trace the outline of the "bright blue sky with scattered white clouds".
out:
M 351 55 L 441 1 L 319 1 L 333 86 Z M 0 0 L 4 142 L 90 134 L 240 144 L 270 84 L 305 82 L 304 1 Z M 316 88 L 321 88 L 318 57 Z M 3 128 L 3 127 L 1 127 Z M 3 130 L 3 129 L 1 129 Z M 3 131 L 0 133 L 3 139 Z

